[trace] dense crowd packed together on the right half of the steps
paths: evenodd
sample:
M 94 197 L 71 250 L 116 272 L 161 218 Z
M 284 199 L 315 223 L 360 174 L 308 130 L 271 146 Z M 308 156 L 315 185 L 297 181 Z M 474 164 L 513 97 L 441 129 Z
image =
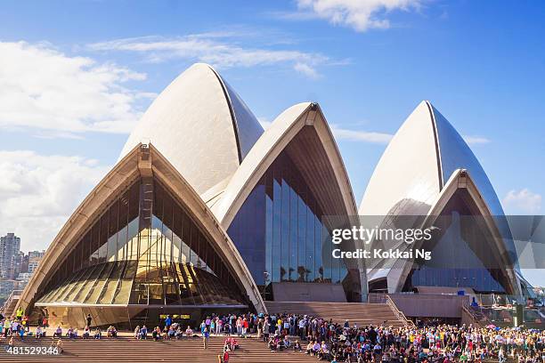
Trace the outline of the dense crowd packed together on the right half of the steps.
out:
M 257 325 L 271 351 L 303 350 L 329 362 L 504 362 L 511 358 L 522 363 L 545 358 L 542 330 L 466 325 L 357 327 L 348 321 L 338 324 L 296 314 L 265 317 Z

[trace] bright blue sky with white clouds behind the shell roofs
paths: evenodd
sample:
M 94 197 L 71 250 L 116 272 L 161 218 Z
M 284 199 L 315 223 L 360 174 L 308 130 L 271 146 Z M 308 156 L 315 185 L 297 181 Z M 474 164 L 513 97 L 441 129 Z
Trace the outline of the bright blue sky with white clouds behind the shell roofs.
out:
M 506 212 L 542 214 L 545 4 L 338 3 L 4 1 L 0 232 L 45 248 L 195 61 L 265 122 L 320 102 L 358 203 L 389 135 L 427 99 L 470 141 Z

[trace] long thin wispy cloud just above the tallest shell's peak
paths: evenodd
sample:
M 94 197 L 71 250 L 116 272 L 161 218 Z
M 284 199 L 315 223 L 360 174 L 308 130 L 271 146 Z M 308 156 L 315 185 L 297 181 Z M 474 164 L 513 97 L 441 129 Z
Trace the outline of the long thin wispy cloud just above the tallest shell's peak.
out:
M 204 33 L 175 38 L 143 36 L 88 44 L 87 48 L 93 51 L 137 52 L 150 62 L 173 59 L 202 61 L 220 69 L 286 65 L 313 78 L 318 77 L 317 66 L 346 64 L 346 61 L 329 60 L 329 57 L 317 52 L 243 47 L 230 33 L 224 36 Z

